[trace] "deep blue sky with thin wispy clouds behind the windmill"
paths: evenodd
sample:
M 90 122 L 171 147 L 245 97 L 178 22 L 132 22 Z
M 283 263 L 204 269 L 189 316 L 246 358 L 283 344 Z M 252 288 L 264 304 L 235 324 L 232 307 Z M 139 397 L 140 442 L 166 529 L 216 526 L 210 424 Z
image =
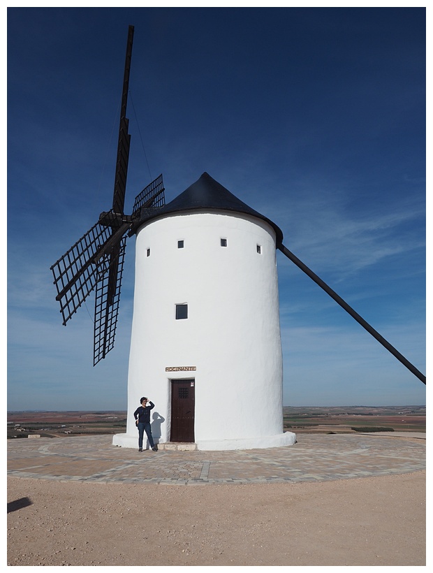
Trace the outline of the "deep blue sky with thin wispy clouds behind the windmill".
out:
M 9 8 L 8 409 L 126 409 L 135 238 L 96 367 L 93 298 L 62 326 L 50 266 L 111 207 L 129 24 L 126 212 L 207 171 L 425 374 L 424 8 Z M 277 264 L 284 405 L 425 404 Z

